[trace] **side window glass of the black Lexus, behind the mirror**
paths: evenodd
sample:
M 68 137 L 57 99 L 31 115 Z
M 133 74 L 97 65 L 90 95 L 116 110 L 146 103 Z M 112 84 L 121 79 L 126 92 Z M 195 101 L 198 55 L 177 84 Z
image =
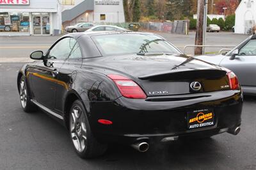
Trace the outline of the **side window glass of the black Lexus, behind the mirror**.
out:
M 76 44 L 74 38 L 61 39 L 56 45 L 54 45 L 47 55 L 47 59 L 67 59 L 72 48 Z

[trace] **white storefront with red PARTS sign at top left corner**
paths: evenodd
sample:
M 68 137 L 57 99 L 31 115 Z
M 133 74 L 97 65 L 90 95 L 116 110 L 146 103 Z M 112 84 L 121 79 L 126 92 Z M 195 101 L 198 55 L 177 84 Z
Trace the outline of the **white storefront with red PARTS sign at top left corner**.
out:
M 61 34 L 58 0 L 0 0 L 0 36 L 58 34 Z

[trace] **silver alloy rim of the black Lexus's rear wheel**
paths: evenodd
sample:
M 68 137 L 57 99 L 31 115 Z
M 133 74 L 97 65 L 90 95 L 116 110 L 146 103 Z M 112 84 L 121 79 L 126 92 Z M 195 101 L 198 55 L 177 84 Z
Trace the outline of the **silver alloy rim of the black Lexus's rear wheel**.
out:
M 77 152 L 83 152 L 86 148 L 85 117 L 81 108 L 75 105 L 70 116 L 70 134 Z

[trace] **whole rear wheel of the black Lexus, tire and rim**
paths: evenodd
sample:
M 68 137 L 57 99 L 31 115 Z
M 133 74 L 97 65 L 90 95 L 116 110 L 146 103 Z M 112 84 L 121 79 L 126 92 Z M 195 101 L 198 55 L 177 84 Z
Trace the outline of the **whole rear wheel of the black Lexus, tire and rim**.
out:
M 103 155 L 108 145 L 100 143 L 94 138 L 86 111 L 81 101 L 72 104 L 69 113 L 69 135 L 74 149 L 83 159 L 90 159 Z

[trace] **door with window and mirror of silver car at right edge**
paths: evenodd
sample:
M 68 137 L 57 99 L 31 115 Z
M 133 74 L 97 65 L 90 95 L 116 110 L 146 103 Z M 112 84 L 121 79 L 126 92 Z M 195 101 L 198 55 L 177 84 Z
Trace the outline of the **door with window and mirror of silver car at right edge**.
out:
M 241 46 L 234 60 L 230 60 L 230 56 L 225 57 L 220 66 L 232 70 L 242 87 L 256 87 L 256 39 L 251 39 Z

